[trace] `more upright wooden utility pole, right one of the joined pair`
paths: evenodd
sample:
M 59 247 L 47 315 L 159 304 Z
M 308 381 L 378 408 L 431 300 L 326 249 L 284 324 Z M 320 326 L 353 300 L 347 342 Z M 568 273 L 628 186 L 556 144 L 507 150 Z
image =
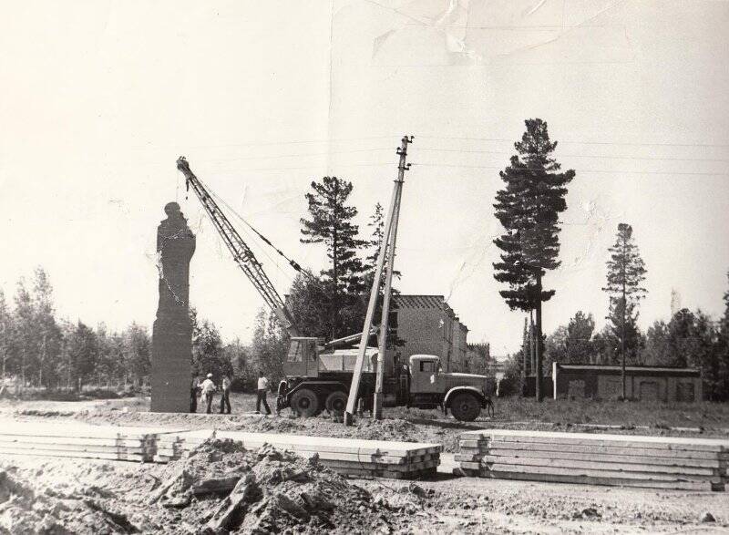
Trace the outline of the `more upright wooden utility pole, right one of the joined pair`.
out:
M 383 383 L 385 382 L 385 351 L 387 349 L 387 324 L 390 318 L 390 298 L 392 297 L 393 287 L 393 269 L 395 266 L 395 242 L 397 242 L 397 223 L 400 220 L 400 201 L 403 198 L 403 182 L 405 181 L 405 171 L 410 169 L 410 164 L 406 163 L 407 144 L 412 143 L 410 139 L 403 138 L 402 145 L 397 149 L 400 155 L 400 162 L 397 166 L 397 180 L 395 180 L 395 190 L 397 198 L 395 199 L 395 211 L 393 212 L 393 224 L 390 229 L 390 235 L 387 237 L 387 246 L 385 253 L 387 256 L 387 273 L 385 274 L 385 293 L 383 295 L 382 316 L 380 319 L 380 347 L 377 352 L 377 378 L 375 382 L 375 399 L 373 401 L 372 417 L 375 420 L 382 419 L 382 399 L 383 399 Z M 379 281 L 376 281 L 379 286 Z

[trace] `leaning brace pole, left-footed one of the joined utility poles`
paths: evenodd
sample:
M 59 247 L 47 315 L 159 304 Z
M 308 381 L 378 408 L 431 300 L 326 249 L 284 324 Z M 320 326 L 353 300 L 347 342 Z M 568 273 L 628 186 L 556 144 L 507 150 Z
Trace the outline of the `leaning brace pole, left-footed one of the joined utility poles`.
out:
M 405 157 L 407 154 L 407 144 L 413 142 L 413 137 L 405 136 L 402 140 L 401 146 L 397 149 L 397 154 L 400 155 L 400 165 L 398 167 L 398 179 L 395 180 L 395 186 L 393 187 L 393 194 L 390 199 L 390 207 L 387 209 L 387 219 L 385 220 L 385 235 L 383 241 L 380 243 L 380 252 L 377 255 L 377 263 L 375 265 L 375 277 L 372 282 L 372 289 L 370 290 L 370 300 L 367 304 L 367 314 L 364 316 L 364 328 L 362 331 L 362 337 L 359 341 L 359 349 L 357 351 L 357 360 L 354 363 L 354 373 L 352 376 L 352 385 L 349 388 L 349 397 L 347 398 L 347 406 L 344 411 L 344 425 L 351 426 L 353 424 L 354 407 L 357 403 L 357 397 L 359 396 L 359 384 L 362 379 L 362 368 L 364 367 L 364 355 L 367 351 L 367 340 L 369 333 L 372 330 L 372 319 L 375 315 L 375 304 L 377 304 L 377 295 L 380 290 L 380 281 L 382 280 L 382 268 L 385 264 L 385 252 L 387 250 L 387 244 L 390 242 L 390 235 L 393 228 L 393 219 L 395 215 L 395 209 L 399 211 L 399 199 L 400 191 L 403 187 L 403 172 L 408 169 L 408 165 L 405 163 Z M 391 251 L 391 255 L 395 256 L 395 247 Z M 390 268 L 392 262 L 390 262 Z M 388 270 L 389 271 L 389 270 Z M 392 274 L 392 273 L 391 273 Z M 389 300 L 388 300 L 389 303 Z M 384 309 L 385 307 L 383 307 Z M 386 329 L 386 324 L 381 325 L 381 329 Z M 386 336 L 382 334 L 383 337 Z M 378 367 L 379 363 L 383 361 L 384 354 L 380 354 L 377 359 Z

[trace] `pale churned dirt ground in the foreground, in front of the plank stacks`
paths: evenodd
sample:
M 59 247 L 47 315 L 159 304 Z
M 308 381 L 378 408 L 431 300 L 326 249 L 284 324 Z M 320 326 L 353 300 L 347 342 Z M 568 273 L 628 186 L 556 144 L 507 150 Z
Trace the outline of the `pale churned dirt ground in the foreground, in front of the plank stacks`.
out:
M 245 454 L 244 454 L 245 455 Z M 205 476 L 266 472 L 255 459 L 226 453 L 233 465 Z M 179 461 L 181 463 L 183 461 Z M 299 464 L 306 463 L 300 459 Z M 295 467 L 295 463 L 293 463 Z M 241 468 L 242 467 L 242 468 Z M 190 469 L 190 467 L 187 467 Z M 180 500 L 173 488 L 169 499 L 151 502 L 175 463 L 32 458 L 0 459 L 0 533 L 204 533 L 221 509 L 221 496 Z M 257 471 L 256 471 L 257 470 Z M 269 472 L 271 467 L 268 467 Z M 615 489 L 582 485 L 538 484 L 478 478 L 436 481 L 344 479 L 326 468 L 305 468 L 316 481 L 281 488 L 269 484 L 264 498 L 249 507 L 247 524 L 235 532 L 338 533 L 729 533 L 729 496 L 716 492 Z M 192 477 L 198 477 L 190 469 Z M 290 472 L 291 473 L 291 472 Z M 295 469 L 293 470 L 295 473 Z M 5 475 L 5 477 L 4 477 Z M 21 498 L 4 498 L 14 489 Z M 301 501 L 302 492 L 317 484 L 330 489 L 334 509 L 302 513 L 275 501 L 280 493 Z M 18 490 L 18 487 L 21 490 Z M 323 493 L 324 490 L 320 490 Z M 334 493 L 331 492 L 334 490 Z M 32 499 L 24 499 L 32 493 Z M 167 497 L 166 497 L 167 498 Z M 330 501 L 334 501 L 330 497 Z M 3 503 L 4 502 L 4 503 Z M 257 506 L 254 507 L 254 506 Z M 283 510 L 279 510 L 283 509 Z M 336 512 L 337 514 L 334 514 Z M 714 521 L 702 521 L 709 513 Z M 268 522 L 268 523 L 267 523 Z M 211 532 L 211 531 L 210 531 Z M 223 531 L 224 532 L 224 531 Z

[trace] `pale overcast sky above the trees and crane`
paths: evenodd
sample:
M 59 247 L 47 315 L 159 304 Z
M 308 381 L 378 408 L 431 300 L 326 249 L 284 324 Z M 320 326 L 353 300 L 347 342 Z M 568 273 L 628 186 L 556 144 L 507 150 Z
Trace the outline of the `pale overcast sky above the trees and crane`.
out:
M 427 0 L 36 1 L 0 17 L 0 287 L 43 265 L 58 313 L 121 329 L 157 306 L 155 232 L 179 201 L 198 235 L 190 298 L 225 339 L 262 300 L 175 159 L 284 252 L 312 180 L 354 183 L 363 230 L 386 205 L 395 147 L 416 136 L 397 268 L 403 293 L 443 294 L 470 342 L 518 348 L 498 295 L 498 170 L 524 119 L 549 123 L 577 171 L 546 283 L 551 332 L 604 324 L 619 222 L 648 268 L 643 327 L 681 304 L 717 316 L 729 289 L 729 3 Z M 242 231 L 243 229 L 241 229 Z M 244 233 L 244 236 L 247 234 Z M 251 243 L 285 293 L 293 273 Z M 271 254 L 271 258 L 269 258 Z

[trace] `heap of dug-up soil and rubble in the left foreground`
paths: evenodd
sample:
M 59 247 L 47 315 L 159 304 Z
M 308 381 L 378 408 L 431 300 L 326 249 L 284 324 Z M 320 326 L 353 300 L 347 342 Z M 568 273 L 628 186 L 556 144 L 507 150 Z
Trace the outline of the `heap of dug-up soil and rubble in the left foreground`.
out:
M 406 529 L 405 513 L 428 497 L 417 486 L 405 494 L 383 487 L 374 497 L 316 457 L 231 440 L 144 467 L 156 475 L 95 464 L 84 483 L 56 484 L 48 473 L 31 484 L 32 474 L 1 470 L 0 533 L 390 533 Z

